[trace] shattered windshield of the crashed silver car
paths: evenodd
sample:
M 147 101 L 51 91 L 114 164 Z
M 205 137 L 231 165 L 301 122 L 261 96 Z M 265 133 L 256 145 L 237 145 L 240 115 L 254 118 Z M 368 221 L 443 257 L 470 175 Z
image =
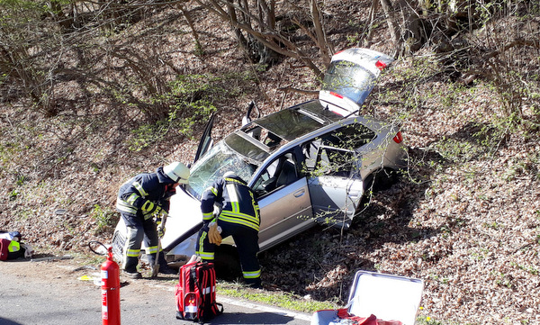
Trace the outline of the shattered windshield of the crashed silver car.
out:
M 200 199 L 202 192 L 226 172 L 233 171 L 248 182 L 256 169 L 257 166 L 247 163 L 220 141 L 190 168 L 189 185 L 185 189 Z

